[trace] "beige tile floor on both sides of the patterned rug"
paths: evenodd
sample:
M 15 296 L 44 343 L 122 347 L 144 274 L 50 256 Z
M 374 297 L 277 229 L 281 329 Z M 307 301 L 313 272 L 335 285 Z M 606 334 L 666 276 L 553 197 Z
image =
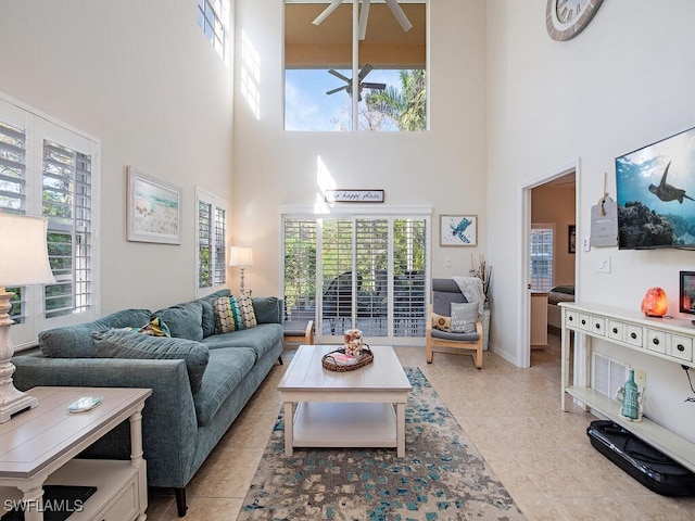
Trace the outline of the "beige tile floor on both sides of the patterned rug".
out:
M 532 352 L 530 369 L 490 352 L 482 370 L 470 356 L 435 354 L 428 365 L 424 347 L 396 353 L 427 376 L 529 520 L 695 520 L 695 498 L 652 493 L 590 445 L 591 415 L 560 411 L 559 341 L 549 342 Z M 275 366 L 193 478 L 188 521 L 237 518 L 280 409 L 276 387 L 286 367 Z M 178 519 L 169 491 L 151 490 L 149 500 L 149 520 Z

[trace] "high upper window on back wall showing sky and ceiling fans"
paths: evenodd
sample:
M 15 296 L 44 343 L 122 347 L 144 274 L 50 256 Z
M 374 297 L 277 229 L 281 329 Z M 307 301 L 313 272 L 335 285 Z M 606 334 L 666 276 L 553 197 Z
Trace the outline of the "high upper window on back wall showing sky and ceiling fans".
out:
M 285 129 L 426 130 L 426 8 L 286 0 Z

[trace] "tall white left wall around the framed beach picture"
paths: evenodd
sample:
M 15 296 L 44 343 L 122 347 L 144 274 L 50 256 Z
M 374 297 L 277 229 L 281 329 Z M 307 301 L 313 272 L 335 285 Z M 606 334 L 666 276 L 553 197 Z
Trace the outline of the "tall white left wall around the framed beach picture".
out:
M 0 90 L 101 140 L 101 312 L 195 292 L 194 187 L 231 198 L 232 73 L 194 0 L 0 3 Z M 126 167 L 184 190 L 182 244 L 125 239 Z

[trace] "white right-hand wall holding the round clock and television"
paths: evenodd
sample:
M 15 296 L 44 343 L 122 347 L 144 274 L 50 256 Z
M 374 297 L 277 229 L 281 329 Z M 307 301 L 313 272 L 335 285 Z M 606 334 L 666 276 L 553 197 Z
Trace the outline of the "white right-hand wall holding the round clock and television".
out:
M 615 157 L 695 125 L 695 2 L 605 1 L 591 25 L 567 42 L 548 38 L 545 4 L 488 2 L 493 335 L 497 346 L 517 354 L 523 326 L 518 309 L 526 294 L 519 283 L 526 234 L 518 224 L 520 187 L 579 158 L 580 243 L 589 236 L 591 206 L 603 195 L 604 173 L 615 196 Z M 695 262 L 694 253 L 682 251 L 610 247 L 577 255 L 583 302 L 639 309 L 645 290 L 660 285 L 675 315 L 679 270 Z M 608 255 L 612 272 L 597 274 L 598 259 Z M 502 292 L 506 298 L 500 298 Z M 684 403 L 692 392 L 680 366 L 612 353 L 647 370 L 646 412 L 695 441 L 695 405 Z

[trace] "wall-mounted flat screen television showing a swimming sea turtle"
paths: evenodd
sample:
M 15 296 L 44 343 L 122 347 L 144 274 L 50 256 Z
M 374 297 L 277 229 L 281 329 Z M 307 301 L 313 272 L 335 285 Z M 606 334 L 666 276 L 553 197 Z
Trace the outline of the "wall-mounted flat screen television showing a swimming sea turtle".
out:
M 695 250 L 695 128 L 616 157 L 622 250 Z

